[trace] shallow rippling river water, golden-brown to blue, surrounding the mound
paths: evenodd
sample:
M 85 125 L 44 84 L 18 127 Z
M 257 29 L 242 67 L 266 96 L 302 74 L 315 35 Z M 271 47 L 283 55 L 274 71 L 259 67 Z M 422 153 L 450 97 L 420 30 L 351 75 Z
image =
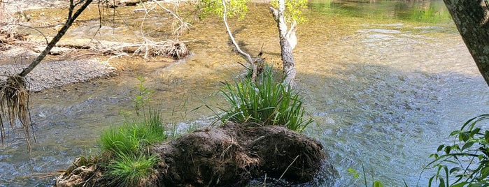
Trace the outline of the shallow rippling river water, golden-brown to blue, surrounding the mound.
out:
M 367 181 L 427 186 L 433 171 L 420 173 L 428 156 L 464 121 L 489 111 L 488 86 L 443 2 L 315 0 L 304 14 L 294 55 L 298 89 L 316 120 L 306 134 L 323 143 L 338 171 L 333 181 L 320 175 L 306 186 L 363 186 L 347 172 L 361 171 L 362 165 Z M 67 37 L 93 36 L 90 28 L 97 23 L 87 24 Z M 245 20 L 230 24 L 244 50 L 262 49 L 267 61 L 280 62 L 278 33 L 266 6 L 253 5 Z M 116 34 L 112 38 L 127 36 L 102 29 Z M 215 95 L 219 81 L 243 73 L 236 63 L 242 60 L 216 20 L 195 22 L 183 37 L 194 52 L 185 61 L 151 61 L 143 63 L 144 70 L 108 80 L 34 93 L 38 142 L 29 156 L 22 136 L 9 136 L 0 149 L 0 186 L 48 186 L 53 177 L 46 173 L 97 151 L 101 130 L 122 123 L 121 113 L 132 111 L 138 76 L 155 90 L 169 126 L 208 125 L 212 112 L 193 109 L 222 106 Z

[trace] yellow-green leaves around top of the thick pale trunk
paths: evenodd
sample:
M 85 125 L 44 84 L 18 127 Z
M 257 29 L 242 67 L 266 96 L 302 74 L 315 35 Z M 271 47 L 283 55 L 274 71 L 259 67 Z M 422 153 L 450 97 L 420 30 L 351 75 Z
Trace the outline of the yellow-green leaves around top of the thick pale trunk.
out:
M 278 0 L 272 0 L 271 6 L 278 8 Z M 302 10 L 307 8 L 307 0 L 285 0 L 285 21 L 286 22 L 306 22 L 302 16 Z

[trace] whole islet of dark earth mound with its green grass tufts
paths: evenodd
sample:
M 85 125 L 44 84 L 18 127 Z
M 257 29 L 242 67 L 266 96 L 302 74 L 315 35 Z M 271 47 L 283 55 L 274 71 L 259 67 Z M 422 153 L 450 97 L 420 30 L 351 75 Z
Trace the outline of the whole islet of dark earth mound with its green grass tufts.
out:
M 169 142 L 165 141 L 167 137 L 176 133 L 167 131 L 159 110 L 150 107 L 153 103 L 150 94 L 153 91 L 146 88 L 143 85 L 144 80 L 139 78 L 139 94 L 133 100 L 136 119 L 127 119 L 122 126 L 113 126 L 104 130 L 99 141 L 101 154 L 78 158 L 64 174 L 57 178 L 57 186 L 243 184 L 263 172 L 277 179 L 310 181 L 322 169 L 322 160 L 327 156 L 319 142 L 304 139 L 305 137 L 297 133 L 290 134 L 283 128 L 274 128 L 278 125 L 301 132 L 312 122 L 312 119 L 306 119 L 299 94 L 291 87 L 286 87 L 282 81 L 276 82 L 276 80 L 278 77 L 274 74 L 274 69 L 265 66 L 264 72 L 259 75 L 256 82 L 246 77 L 234 84 L 226 83 L 220 90 L 222 96 L 229 102 L 230 108 L 221 108 L 222 112 L 216 112 L 216 117 L 224 125 L 221 127 L 222 130 L 228 134 L 235 133 L 232 135 L 235 140 L 226 136 L 220 137 L 222 132 L 219 131 L 221 128 L 218 128 L 197 130 Z M 227 121 L 232 121 L 232 124 Z M 246 133 L 248 131 L 252 133 Z M 241 133 L 248 134 L 248 137 L 240 137 Z M 213 134 L 217 135 L 214 137 Z M 206 139 L 206 135 L 210 137 Z M 257 137 L 254 137 L 256 135 Z M 229 145 L 225 142 L 228 139 L 232 141 Z M 196 142 L 197 148 L 193 148 Z M 224 147 L 215 147 L 215 142 Z M 247 149 L 240 148 L 251 145 L 258 147 L 255 142 L 264 144 L 262 149 L 255 150 L 255 154 L 260 154 L 259 157 L 248 156 Z M 306 142 L 305 145 L 302 142 Z M 301 148 L 290 144 L 300 144 Z M 267 146 L 283 150 L 282 154 L 285 154 L 285 151 L 290 152 L 291 156 L 274 156 L 275 151 Z M 185 150 L 179 152 L 171 147 Z M 206 149 L 204 147 L 211 147 L 209 151 L 218 152 L 219 156 L 199 157 L 192 154 L 196 149 L 199 149 L 201 151 L 199 154 L 202 154 L 201 149 Z M 191 154 L 191 162 L 199 166 L 197 172 L 192 170 L 192 163 L 178 163 L 179 160 L 186 160 L 187 154 Z M 230 155 L 229 159 L 224 159 L 227 155 Z M 288 160 L 290 158 L 293 160 Z M 233 163 L 240 164 L 233 165 Z M 294 163 L 301 167 L 289 168 Z M 230 166 L 222 169 L 222 165 Z M 254 167 L 257 168 L 256 171 L 253 170 Z M 162 168 L 168 172 L 161 172 Z M 221 168 L 223 171 L 220 173 L 220 169 L 213 168 Z M 207 176 L 209 173 L 219 173 L 219 178 L 216 180 L 214 175 Z M 185 174 L 192 176 L 185 176 Z

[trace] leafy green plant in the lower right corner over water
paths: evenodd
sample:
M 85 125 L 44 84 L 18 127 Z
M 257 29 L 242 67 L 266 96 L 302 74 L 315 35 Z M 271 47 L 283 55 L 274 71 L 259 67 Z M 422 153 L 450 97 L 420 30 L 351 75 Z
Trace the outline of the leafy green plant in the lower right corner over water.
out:
M 489 130 L 478 126 L 487 119 L 489 114 L 469 119 L 460 130 L 450 133 L 455 139 L 453 144 L 441 144 L 437 153 L 430 155 L 434 160 L 428 166 L 436 168 L 437 173 L 430 178 L 429 186 L 489 185 Z

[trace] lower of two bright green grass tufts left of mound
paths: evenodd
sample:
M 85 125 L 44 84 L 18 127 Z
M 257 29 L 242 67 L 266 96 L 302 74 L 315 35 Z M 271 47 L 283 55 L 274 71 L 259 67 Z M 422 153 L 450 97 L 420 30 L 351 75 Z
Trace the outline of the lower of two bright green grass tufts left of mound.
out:
M 105 177 L 113 186 L 148 186 L 158 160 L 155 156 L 122 155 L 108 164 Z

